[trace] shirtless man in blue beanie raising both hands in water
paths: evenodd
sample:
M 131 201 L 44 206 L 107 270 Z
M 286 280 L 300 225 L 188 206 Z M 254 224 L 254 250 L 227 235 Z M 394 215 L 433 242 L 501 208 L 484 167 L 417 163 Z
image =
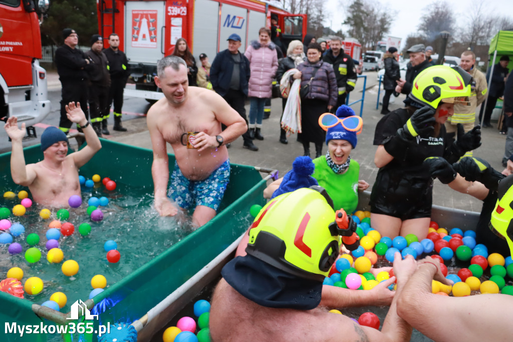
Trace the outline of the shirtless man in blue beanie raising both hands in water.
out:
M 100 140 L 82 109 L 80 103 L 66 105 L 68 119 L 80 124 L 86 137 L 87 146 L 80 151 L 68 154 L 68 138 L 57 127 L 47 127 L 41 135 L 41 149 L 44 159 L 35 164 L 25 164 L 22 140 L 25 136 L 25 123 L 17 125 L 17 118 L 10 117 L 4 128 L 12 140 L 11 176 L 14 183 L 28 186 L 32 198 L 42 205 L 62 207 L 68 205 L 71 195 L 80 195 L 78 169 L 87 163 L 102 148 Z

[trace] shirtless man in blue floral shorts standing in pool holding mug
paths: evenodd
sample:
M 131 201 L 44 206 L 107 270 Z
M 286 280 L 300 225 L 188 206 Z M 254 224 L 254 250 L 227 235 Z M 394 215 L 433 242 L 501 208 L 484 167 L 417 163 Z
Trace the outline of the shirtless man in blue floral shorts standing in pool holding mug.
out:
M 246 122 L 215 92 L 189 88 L 187 65 L 180 57 L 167 56 L 159 61 L 155 84 L 165 96 L 151 106 L 147 115 L 155 208 L 161 216 L 176 215 L 178 208 L 169 196 L 185 210 L 195 207 L 192 222 L 202 226 L 215 216 L 229 181 L 226 144 L 247 130 Z M 221 124 L 227 126 L 223 131 Z M 194 148 L 184 145 L 187 132 L 199 132 Z M 176 158 L 169 192 L 167 142 Z

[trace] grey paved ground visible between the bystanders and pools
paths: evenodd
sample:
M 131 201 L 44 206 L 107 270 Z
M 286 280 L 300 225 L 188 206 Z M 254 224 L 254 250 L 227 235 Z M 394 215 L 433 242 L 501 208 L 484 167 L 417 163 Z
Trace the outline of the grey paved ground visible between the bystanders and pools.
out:
M 375 72 L 364 73 L 367 75 L 367 91 L 365 92 L 365 102 L 362 117 L 364 120 L 364 128 L 358 138 L 358 146 L 351 153 L 351 158 L 356 159 L 360 163 L 361 178 L 365 179 L 369 184 L 374 183 L 378 168 L 374 166 L 373 158 L 376 146 L 372 145 L 374 128 L 376 123 L 381 119 L 380 110 L 376 110 L 376 101 L 378 96 L 377 80 Z M 50 98 L 52 98 L 52 112 L 58 117 L 58 100 L 60 100 L 60 82 L 54 72 L 48 73 L 48 83 Z M 358 80 L 357 88 L 351 92 L 350 101 L 356 101 L 362 97 L 363 78 Z M 57 100 L 58 99 L 58 100 Z M 395 103 L 390 105 L 390 109 L 402 107 L 404 96 L 395 99 Z M 287 145 L 281 144 L 280 135 L 280 116 L 281 116 L 281 99 L 273 99 L 271 101 L 271 117 L 264 120 L 262 134 L 264 141 L 255 140 L 255 144 L 259 147 L 259 151 L 252 152 L 242 148 L 242 138 L 239 138 L 231 144 L 229 149 L 230 160 L 232 163 L 254 165 L 278 169 L 280 175 L 283 176 L 292 165 L 295 157 L 302 155 L 302 145 L 295 141 L 295 136 L 289 138 Z M 353 109 L 359 113 L 360 103 L 352 105 Z M 124 118 L 124 126 L 128 128 L 128 132 L 114 132 L 111 129 L 111 136 L 108 138 L 134 146 L 151 148 L 150 138 L 146 128 L 146 119 L 142 114 L 148 108 L 148 104 L 143 99 L 125 98 L 125 106 L 123 111 L 129 112 Z M 249 112 L 249 105 L 246 106 Z M 56 114 L 55 114 L 56 113 Z M 48 118 L 47 118 L 48 119 Z M 49 122 L 46 122 L 48 121 Z M 55 125 L 55 117 L 45 120 L 46 124 Z M 112 119 L 111 119 L 112 120 Z M 5 136 L 5 132 L 2 132 Z M 500 135 L 496 128 L 487 128 L 482 131 L 483 145 L 474 153 L 475 156 L 486 159 L 492 166 L 502 170 L 501 159 L 504 153 L 505 136 Z M 26 145 L 37 143 L 38 139 L 28 142 Z M 5 150 L 5 148 L 4 148 Z M 171 148 L 168 148 L 171 151 Z M 313 146 L 311 148 L 313 150 Z M 323 149 L 325 152 L 326 147 Z M 435 181 L 435 191 L 433 192 L 433 203 L 448 207 L 460 208 L 463 210 L 480 211 L 481 202 L 473 199 L 468 195 L 463 195 L 452 191 L 448 186 Z

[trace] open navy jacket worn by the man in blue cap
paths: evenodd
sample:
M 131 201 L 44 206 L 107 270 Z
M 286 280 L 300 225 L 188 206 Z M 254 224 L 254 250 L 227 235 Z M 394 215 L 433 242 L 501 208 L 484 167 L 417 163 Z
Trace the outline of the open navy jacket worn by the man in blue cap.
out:
M 240 90 L 248 96 L 248 81 L 251 71 L 249 70 L 249 60 L 239 51 L 241 56 L 240 68 Z M 221 96 L 225 96 L 230 88 L 231 74 L 235 62 L 231 58 L 231 52 L 226 49 L 219 52 L 210 67 L 210 82 L 215 92 Z

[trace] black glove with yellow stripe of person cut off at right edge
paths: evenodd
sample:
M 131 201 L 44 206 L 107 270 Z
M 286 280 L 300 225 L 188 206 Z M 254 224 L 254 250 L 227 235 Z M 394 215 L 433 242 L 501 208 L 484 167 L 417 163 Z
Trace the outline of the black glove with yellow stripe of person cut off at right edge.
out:
M 453 167 L 467 181 L 483 183 L 490 191 L 497 191 L 499 181 L 506 177 L 492 168 L 486 160 L 477 157 L 462 158 Z

